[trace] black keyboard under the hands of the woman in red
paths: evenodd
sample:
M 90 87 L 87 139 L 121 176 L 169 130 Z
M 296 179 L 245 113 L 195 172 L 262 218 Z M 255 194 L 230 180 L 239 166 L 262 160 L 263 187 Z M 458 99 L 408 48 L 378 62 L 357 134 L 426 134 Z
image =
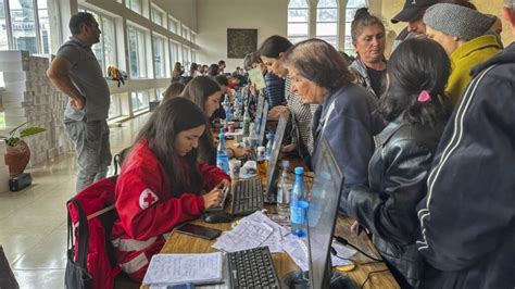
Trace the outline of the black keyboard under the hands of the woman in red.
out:
M 236 183 L 233 193 L 233 215 L 244 216 L 263 208 L 263 184 L 260 178 Z

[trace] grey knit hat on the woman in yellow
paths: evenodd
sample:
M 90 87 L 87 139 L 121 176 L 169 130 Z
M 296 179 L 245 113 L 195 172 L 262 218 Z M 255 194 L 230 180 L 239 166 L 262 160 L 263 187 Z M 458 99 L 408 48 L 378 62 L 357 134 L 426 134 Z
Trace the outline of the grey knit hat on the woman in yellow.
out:
M 492 17 L 476 10 L 449 3 L 435 4 L 424 14 L 427 26 L 465 41 L 485 35 L 493 22 Z

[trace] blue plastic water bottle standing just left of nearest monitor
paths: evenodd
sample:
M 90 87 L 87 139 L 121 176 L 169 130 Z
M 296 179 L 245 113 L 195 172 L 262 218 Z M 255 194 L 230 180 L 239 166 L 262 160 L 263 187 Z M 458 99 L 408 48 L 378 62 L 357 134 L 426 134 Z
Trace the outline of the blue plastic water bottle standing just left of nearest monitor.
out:
M 298 237 L 306 236 L 307 202 L 305 200 L 304 168 L 296 167 L 296 184 L 290 198 L 291 234 Z

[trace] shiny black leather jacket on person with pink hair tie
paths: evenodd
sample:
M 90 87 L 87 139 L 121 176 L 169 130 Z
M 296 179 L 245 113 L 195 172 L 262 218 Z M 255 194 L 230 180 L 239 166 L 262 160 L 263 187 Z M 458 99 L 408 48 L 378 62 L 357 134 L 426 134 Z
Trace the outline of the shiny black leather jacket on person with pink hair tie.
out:
M 373 234 L 373 242 L 399 284 L 418 287 L 424 272 L 415 241 L 419 236 L 416 205 L 426 196 L 426 180 L 443 124 L 431 128 L 401 121 L 375 137 L 368 186 L 353 188 L 349 213 Z

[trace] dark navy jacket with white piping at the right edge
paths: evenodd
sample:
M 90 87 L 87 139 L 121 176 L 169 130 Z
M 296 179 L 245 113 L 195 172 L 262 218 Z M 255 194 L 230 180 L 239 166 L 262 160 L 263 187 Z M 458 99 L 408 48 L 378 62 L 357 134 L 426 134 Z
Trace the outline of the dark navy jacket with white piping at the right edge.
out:
M 445 127 L 419 252 L 426 288 L 515 287 L 515 45 L 474 70 Z

